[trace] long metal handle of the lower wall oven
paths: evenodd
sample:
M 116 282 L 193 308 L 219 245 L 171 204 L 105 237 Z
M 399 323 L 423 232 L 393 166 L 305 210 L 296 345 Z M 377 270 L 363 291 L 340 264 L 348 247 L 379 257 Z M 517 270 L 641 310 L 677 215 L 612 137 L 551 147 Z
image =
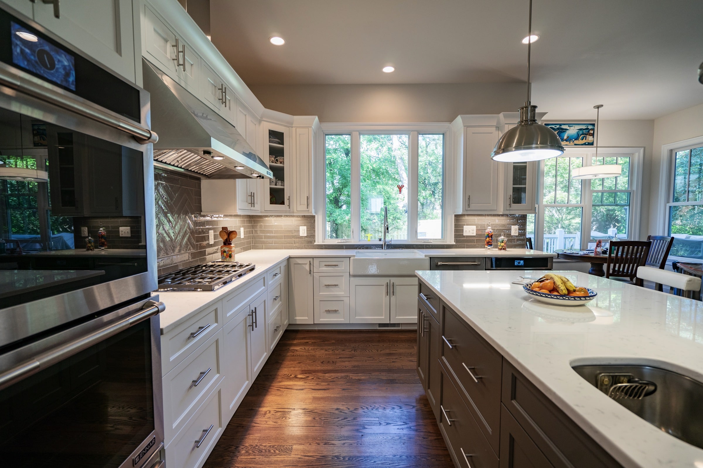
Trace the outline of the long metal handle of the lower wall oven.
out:
M 31 361 L 25 361 L 10 370 L 6 370 L 6 372 L 0 374 L 0 390 L 39 372 L 39 370 L 53 366 L 53 364 L 58 361 L 62 361 L 69 356 L 73 356 L 74 354 L 96 345 L 96 343 L 106 340 L 113 335 L 117 335 L 117 333 L 127 330 L 127 328 L 130 328 L 131 326 L 134 326 L 137 323 L 150 318 L 151 316 L 155 316 L 160 312 L 164 312 L 165 310 L 166 306 L 163 302 L 155 302 L 153 300 L 147 301 L 144 306 L 138 310 L 138 312 L 131 314 L 120 321 L 110 323 L 110 325 L 99 328 L 88 335 L 79 337 L 76 340 L 72 340 L 67 343 L 63 343 L 63 345 L 59 345 L 53 349 L 49 349 L 49 351 L 39 354 L 39 356 L 36 356 Z

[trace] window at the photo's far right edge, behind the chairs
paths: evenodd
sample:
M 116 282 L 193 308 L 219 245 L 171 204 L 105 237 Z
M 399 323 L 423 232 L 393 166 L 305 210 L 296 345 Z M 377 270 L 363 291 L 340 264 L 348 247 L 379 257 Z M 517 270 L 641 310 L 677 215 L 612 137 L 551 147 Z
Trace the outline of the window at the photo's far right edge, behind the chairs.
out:
M 669 203 L 669 255 L 703 259 L 703 147 L 673 152 Z

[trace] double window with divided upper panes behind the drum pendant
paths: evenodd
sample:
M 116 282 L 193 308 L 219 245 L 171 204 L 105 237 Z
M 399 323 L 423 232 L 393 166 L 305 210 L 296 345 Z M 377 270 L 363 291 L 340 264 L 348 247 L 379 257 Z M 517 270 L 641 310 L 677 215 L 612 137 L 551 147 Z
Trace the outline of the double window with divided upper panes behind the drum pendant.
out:
M 639 166 L 641 148 L 568 148 L 565 154 L 546 159 L 540 166 L 540 199 L 534 234 L 535 248 L 546 252 L 583 250 L 598 239 L 637 239 Z M 577 180 L 575 168 L 619 164 L 614 178 Z M 532 215 L 530 215 L 531 218 Z

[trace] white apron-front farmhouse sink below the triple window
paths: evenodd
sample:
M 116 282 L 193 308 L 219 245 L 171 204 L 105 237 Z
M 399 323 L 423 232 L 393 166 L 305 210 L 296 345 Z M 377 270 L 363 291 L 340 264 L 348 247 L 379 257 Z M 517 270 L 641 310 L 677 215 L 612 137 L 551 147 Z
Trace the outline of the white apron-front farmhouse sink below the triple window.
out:
M 430 259 L 418 250 L 356 250 L 349 273 L 352 276 L 413 276 L 418 269 L 430 269 Z

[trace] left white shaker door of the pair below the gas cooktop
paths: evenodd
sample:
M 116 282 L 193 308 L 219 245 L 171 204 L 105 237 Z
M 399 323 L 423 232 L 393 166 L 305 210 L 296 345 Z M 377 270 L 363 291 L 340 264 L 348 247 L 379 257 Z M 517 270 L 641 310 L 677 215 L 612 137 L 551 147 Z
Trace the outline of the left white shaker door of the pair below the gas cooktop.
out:
M 245 305 L 224 326 L 224 352 L 222 353 L 222 413 L 228 421 L 239 407 L 252 383 L 252 355 L 249 349 L 249 332 L 252 316 Z

